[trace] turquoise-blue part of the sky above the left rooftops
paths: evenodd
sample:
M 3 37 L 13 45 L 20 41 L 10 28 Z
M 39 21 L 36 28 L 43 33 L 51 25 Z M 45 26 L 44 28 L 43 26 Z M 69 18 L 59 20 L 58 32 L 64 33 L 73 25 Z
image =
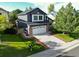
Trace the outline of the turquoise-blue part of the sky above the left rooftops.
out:
M 25 10 L 26 7 L 33 7 L 33 3 L 29 2 L 0 2 L 0 7 L 4 8 L 8 11 L 12 11 L 15 9 Z

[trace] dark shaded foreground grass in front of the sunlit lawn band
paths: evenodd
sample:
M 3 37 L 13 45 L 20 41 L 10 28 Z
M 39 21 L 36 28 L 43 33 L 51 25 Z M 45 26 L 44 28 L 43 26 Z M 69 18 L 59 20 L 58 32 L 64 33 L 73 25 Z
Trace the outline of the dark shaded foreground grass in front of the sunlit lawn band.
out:
M 36 48 L 30 51 L 28 47 L 16 48 L 8 45 L 0 45 L 0 57 L 26 57 L 37 52 L 39 51 Z

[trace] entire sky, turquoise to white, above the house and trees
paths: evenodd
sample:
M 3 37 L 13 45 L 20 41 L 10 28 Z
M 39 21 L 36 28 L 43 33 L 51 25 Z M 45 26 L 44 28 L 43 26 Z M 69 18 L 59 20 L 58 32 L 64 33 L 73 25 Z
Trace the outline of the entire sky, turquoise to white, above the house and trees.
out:
M 25 10 L 26 7 L 39 7 L 41 8 L 43 11 L 47 12 L 47 8 L 48 5 L 50 3 L 55 5 L 55 10 L 58 11 L 62 5 L 66 6 L 69 2 L 72 2 L 72 5 L 74 6 L 74 8 L 79 9 L 79 2 L 73 2 L 73 0 L 70 1 L 58 1 L 58 0 L 49 0 L 50 2 L 37 2 L 37 1 L 26 1 L 26 2 L 0 2 L 0 7 L 4 8 L 5 10 L 8 11 L 12 11 L 15 9 L 21 9 L 21 10 Z

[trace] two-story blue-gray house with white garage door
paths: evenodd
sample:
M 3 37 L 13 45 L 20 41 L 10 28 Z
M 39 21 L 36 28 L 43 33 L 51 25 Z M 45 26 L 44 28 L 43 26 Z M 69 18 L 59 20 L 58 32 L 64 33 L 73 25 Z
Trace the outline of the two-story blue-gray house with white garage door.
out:
M 47 14 L 39 8 L 25 11 L 18 15 L 17 27 L 22 29 L 27 35 L 44 34 L 49 30 L 49 20 Z

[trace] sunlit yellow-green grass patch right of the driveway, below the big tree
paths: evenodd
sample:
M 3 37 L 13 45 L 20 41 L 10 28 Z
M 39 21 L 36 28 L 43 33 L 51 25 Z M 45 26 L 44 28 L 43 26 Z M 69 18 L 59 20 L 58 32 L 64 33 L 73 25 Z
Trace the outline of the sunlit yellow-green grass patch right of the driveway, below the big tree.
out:
M 71 41 L 75 40 L 74 37 L 71 37 L 68 34 L 55 34 L 54 36 L 57 37 L 57 38 L 62 39 L 65 42 L 71 42 Z

